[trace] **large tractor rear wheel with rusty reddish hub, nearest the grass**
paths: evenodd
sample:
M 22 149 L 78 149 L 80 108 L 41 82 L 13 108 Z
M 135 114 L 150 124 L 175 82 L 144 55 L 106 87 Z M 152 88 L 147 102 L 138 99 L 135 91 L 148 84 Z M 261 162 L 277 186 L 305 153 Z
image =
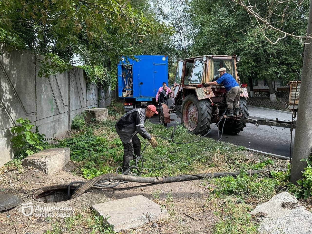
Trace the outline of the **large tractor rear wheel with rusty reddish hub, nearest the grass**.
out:
M 207 99 L 198 100 L 196 95 L 188 95 L 183 100 L 181 110 L 181 123 L 184 123 L 190 133 L 207 133 L 212 119 L 212 107 Z

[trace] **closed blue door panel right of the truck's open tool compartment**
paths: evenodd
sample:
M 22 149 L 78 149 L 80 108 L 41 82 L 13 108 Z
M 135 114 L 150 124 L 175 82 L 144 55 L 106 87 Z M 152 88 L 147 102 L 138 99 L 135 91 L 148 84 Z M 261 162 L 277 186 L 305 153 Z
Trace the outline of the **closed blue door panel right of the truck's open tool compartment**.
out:
M 152 97 L 154 95 L 154 69 L 152 58 L 142 58 L 139 62 L 139 96 Z

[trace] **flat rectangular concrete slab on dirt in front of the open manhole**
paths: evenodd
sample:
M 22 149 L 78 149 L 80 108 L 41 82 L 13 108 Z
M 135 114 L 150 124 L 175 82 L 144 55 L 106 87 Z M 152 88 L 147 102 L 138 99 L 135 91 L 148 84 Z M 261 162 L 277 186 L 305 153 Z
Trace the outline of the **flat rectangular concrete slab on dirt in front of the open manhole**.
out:
M 115 232 L 129 230 L 169 217 L 166 209 L 143 195 L 95 204 L 92 209 L 104 218 L 110 217 L 105 222 Z

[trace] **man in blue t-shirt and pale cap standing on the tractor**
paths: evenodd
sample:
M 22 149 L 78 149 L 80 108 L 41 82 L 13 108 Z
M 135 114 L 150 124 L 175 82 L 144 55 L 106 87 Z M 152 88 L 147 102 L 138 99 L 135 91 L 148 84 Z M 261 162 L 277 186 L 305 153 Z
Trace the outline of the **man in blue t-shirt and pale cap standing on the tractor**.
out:
M 231 74 L 227 73 L 225 67 L 221 67 L 219 70 L 220 78 L 216 81 L 208 82 L 204 84 L 204 87 L 208 85 L 223 84 L 227 90 L 227 116 L 233 117 L 239 115 L 239 99 L 241 96 L 241 88 Z M 233 114 L 233 105 L 235 113 Z

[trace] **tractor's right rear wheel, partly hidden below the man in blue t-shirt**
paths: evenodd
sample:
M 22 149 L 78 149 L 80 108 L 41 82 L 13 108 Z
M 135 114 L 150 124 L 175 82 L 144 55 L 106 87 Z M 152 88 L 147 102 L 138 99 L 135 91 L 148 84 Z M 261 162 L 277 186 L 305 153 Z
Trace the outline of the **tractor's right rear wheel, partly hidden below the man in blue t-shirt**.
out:
M 241 118 L 247 119 L 249 114 L 248 114 L 248 107 L 247 107 L 247 102 L 244 97 L 242 97 L 239 100 L 239 106 L 241 107 L 240 113 L 242 113 Z M 222 126 L 223 126 L 224 121 L 221 121 L 218 129 L 222 131 Z M 245 123 L 239 122 L 234 119 L 227 119 L 224 128 L 223 128 L 223 133 L 229 134 L 229 135 L 236 135 L 237 133 L 241 132 L 244 128 L 246 127 Z

